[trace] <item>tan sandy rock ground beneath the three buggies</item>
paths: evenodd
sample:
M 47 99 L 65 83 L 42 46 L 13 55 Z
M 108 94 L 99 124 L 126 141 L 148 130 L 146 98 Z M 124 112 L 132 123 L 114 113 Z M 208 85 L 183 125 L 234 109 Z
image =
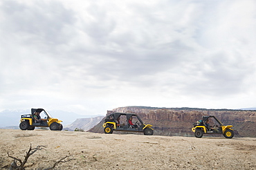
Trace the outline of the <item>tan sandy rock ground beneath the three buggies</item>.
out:
M 100 134 L 75 131 L 0 129 L 0 167 L 24 160 L 30 144 L 44 150 L 28 158 L 26 169 L 256 169 L 256 138 L 187 138 L 143 133 Z

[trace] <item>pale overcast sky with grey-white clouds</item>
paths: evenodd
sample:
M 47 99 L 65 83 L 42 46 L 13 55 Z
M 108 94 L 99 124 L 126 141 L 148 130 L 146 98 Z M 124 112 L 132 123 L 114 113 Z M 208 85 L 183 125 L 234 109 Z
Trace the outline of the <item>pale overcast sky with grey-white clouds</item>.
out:
M 0 111 L 256 107 L 256 1 L 2 0 Z

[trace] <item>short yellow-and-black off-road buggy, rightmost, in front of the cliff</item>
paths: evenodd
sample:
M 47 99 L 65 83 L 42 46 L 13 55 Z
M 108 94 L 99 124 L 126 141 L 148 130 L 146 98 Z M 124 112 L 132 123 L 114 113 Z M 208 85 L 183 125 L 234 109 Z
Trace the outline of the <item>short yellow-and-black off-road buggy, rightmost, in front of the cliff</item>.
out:
M 207 123 L 208 120 L 214 122 L 213 126 L 209 126 Z M 203 134 L 214 134 L 214 133 L 223 133 L 225 138 L 233 138 L 234 130 L 231 129 L 232 125 L 224 126 L 221 121 L 219 121 L 213 115 L 204 115 L 202 120 L 197 121 L 193 124 L 194 127 L 192 131 L 194 132 L 194 136 L 196 138 L 202 138 Z

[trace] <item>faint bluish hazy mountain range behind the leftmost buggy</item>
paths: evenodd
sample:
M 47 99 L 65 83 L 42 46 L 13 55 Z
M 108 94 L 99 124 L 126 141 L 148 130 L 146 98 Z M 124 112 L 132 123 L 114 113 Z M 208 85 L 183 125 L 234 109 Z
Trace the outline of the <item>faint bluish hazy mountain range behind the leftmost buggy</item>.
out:
M 53 110 L 48 112 L 54 118 L 62 120 L 63 121 L 62 124 L 64 125 L 64 127 L 68 124 L 71 124 L 72 122 L 74 122 L 79 118 L 99 116 L 99 115 L 80 115 L 77 113 L 60 111 L 60 110 Z M 0 128 L 4 128 L 6 126 L 19 126 L 19 120 L 21 119 L 21 115 L 30 114 L 30 113 L 31 113 L 30 109 L 1 111 L 0 112 L 0 117 L 1 117 Z

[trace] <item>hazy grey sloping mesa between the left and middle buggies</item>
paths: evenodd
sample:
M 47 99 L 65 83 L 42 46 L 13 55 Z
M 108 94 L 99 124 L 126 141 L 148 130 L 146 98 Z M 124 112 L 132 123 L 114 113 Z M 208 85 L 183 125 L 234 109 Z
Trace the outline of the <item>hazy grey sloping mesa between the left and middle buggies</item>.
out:
M 93 128 L 96 124 L 98 124 L 104 116 L 97 116 L 91 118 L 80 118 L 75 120 L 72 124 L 68 126 L 64 126 L 64 130 L 74 131 L 76 128 L 83 129 L 84 131 L 88 131 Z

